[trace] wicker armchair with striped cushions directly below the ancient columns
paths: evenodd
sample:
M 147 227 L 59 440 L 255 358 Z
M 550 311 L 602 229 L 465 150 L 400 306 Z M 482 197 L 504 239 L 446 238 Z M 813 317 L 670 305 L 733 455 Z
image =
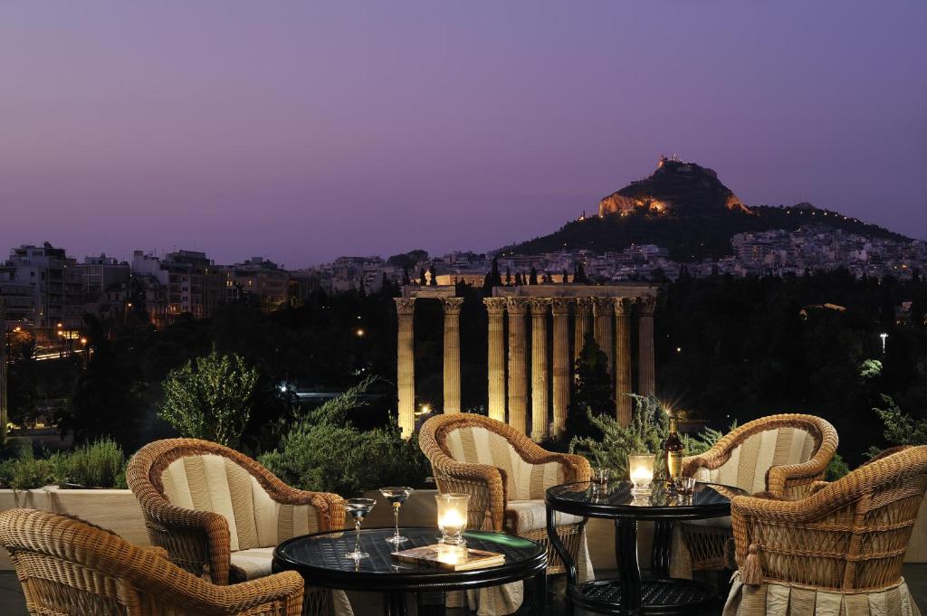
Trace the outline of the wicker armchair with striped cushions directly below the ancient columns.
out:
M 589 481 L 588 460 L 552 453 L 512 426 L 470 413 L 432 417 L 422 425 L 418 441 L 431 461 L 438 491 L 470 495 L 471 528 L 547 545 L 547 572 L 565 571 L 547 538 L 544 491 L 556 484 Z M 556 515 L 558 534 L 579 562 L 579 549 L 585 547 L 582 518 Z

